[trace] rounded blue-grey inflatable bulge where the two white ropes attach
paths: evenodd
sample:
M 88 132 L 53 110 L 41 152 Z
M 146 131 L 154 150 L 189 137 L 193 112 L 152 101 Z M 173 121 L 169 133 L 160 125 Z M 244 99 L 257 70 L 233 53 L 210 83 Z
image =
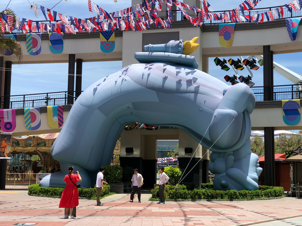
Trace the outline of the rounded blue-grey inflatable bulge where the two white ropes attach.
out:
M 210 124 L 209 136 L 215 146 L 229 148 L 240 137 L 243 114 L 229 109 L 216 109 Z

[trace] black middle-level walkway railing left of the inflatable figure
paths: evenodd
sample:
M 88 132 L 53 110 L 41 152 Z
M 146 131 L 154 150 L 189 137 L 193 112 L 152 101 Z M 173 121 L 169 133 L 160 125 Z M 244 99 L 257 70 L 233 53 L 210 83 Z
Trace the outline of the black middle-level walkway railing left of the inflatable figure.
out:
M 81 91 L 83 92 L 83 91 Z M 4 103 L 9 101 L 9 108 L 33 108 L 51 105 L 66 105 L 68 92 L 35 93 L 25 95 L 0 96 L 1 109 Z M 8 100 L 9 99 L 9 100 Z M 74 101 L 76 97 L 73 97 Z

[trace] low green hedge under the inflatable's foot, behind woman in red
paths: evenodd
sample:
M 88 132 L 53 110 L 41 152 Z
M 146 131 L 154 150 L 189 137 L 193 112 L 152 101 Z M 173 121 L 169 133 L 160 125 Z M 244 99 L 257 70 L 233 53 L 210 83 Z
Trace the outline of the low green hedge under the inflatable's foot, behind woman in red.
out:
M 101 196 L 108 195 L 110 192 L 110 185 L 103 184 Z M 40 187 L 39 184 L 33 184 L 28 187 L 28 194 L 33 195 L 45 195 L 45 196 L 61 196 L 64 188 L 53 188 L 53 187 Z M 95 188 L 78 188 L 79 197 L 82 198 L 96 198 Z

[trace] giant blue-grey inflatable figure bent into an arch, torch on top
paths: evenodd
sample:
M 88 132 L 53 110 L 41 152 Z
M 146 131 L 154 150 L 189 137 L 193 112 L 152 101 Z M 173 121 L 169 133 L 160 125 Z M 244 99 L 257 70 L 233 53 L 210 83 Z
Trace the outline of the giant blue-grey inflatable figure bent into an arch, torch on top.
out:
M 43 187 L 65 187 L 73 165 L 81 185 L 95 183 L 95 172 L 109 164 L 125 126 L 142 122 L 177 127 L 210 149 L 209 169 L 216 190 L 258 190 L 258 156 L 251 153 L 250 114 L 255 97 L 249 86 L 227 86 L 197 70 L 197 38 L 148 45 L 131 64 L 92 84 L 76 100 L 51 154 L 62 172 L 44 177 Z M 65 170 L 66 169 L 66 170 Z

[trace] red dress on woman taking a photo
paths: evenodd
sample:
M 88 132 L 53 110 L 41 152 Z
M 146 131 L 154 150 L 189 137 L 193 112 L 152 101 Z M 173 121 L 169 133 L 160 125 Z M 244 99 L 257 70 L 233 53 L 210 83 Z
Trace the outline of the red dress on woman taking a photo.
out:
M 77 174 L 69 174 L 72 181 L 76 184 L 79 180 Z M 59 208 L 73 208 L 79 206 L 79 191 L 78 188 L 71 182 L 68 174 L 65 175 L 64 181 L 66 182 L 66 187 L 61 196 Z

